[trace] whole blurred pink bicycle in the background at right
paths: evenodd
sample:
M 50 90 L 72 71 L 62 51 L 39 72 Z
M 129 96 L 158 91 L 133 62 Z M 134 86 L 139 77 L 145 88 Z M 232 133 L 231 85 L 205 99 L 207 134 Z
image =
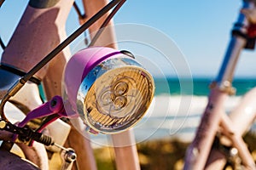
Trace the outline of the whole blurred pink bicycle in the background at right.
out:
M 255 4 L 253 0 L 245 0 L 242 8 L 255 10 Z M 256 169 L 247 145 L 241 138 L 256 117 L 253 106 L 255 88 L 244 96 L 230 116 L 224 111 L 225 99 L 236 92 L 232 88 L 232 80 L 241 50 L 254 48 L 255 26 L 251 21 L 240 13 L 233 27 L 223 64 L 217 78 L 210 85 L 206 110 L 201 117 L 195 139 L 187 150 L 184 169 L 223 169 L 229 156 L 239 156 L 241 159 L 233 162 L 235 169 Z

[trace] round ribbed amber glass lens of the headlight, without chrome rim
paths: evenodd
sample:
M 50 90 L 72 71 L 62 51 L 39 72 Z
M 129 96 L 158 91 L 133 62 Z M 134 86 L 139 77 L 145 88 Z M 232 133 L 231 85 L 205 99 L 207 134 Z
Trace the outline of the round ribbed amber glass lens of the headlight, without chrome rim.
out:
M 96 79 L 84 99 L 86 121 L 106 133 L 131 127 L 148 109 L 153 93 L 153 82 L 141 68 L 108 71 Z

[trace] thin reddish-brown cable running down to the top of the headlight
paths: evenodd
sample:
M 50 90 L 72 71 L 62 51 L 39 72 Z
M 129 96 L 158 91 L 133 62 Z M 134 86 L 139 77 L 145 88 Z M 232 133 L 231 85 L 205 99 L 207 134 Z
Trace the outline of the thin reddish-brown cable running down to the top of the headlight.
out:
M 113 8 L 113 11 L 108 14 L 108 17 L 106 20 L 104 20 L 104 22 L 102 23 L 102 26 L 100 27 L 100 29 L 96 32 L 96 35 L 92 38 L 89 47 L 93 46 L 96 42 L 96 40 L 101 36 L 102 32 L 104 31 L 104 28 L 108 25 L 109 21 L 113 18 L 113 15 L 116 14 L 119 10 L 119 8 L 122 7 L 122 5 L 125 3 L 126 0 L 121 0 L 119 4 L 117 4 L 117 6 L 115 8 Z

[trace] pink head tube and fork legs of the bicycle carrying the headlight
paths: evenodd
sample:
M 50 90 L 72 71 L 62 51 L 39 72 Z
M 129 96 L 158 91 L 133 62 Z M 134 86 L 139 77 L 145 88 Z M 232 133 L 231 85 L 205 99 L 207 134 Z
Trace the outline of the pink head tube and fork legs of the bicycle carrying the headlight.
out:
M 66 37 L 63 28 L 65 28 L 64 25 L 66 22 L 66 17 L 68 11 L 72 6 L 72 3 L 73 1 L 69 3 L 64 3 L 64 1 L 60 1 L 51 8 L 32 8 L 28 6 L 28 8 L 26 9 L 26 14 L 23 16 L 21 22 L 27 23 L 29 22 L 29 20 L 31 20 L 30 23 L 32 24 L 32 26 L 24 24 L 22 26 L 17 27 L 19 31 L 15 32 L 15 35 L 9 42 L 8 48 L 3 54 L 2 62 L 6 65 L 12 65 L 21 71 L 29 71 L 33 65 L 37 64 L 38 61 L 42 59 L 42 57 L 48 54 L 52 48 L 55 48 L 55 46 L 59 42 L 63 41 L 64 37 Z M 108 1 L 105 0 L 99 2 L 84 0 L 84 8 L 86 8 L 88 18 L 90 18 L 90 16 L 92 16 L 93 14 L 96 14 L 96 12 L 102 7 L 104 7 L 107 3 Z M 38 23 L 36 23 L 36 21 L 34 20 L 36 20 Z M 44 22 L 47 20 L 50 20 L 51 23 L 48 23 L 49 25 L 44 25 Z M 49 28 L 48 26 L 53 27 Z M 99 28 L 99 26 L 101 26 L 101 22 L 98 22 L 96 25 L 91 27 L 90 31 L 96 31 Z M 28 29 L 36 29 L 37 31 Z M 40 36 L 38 36 L 38 30 L 41 32 Z M 47 30 L 47 33 L 49 33 L 49 35 L 45 36 L 45 30 Z M 19 32 L 21 33 L 19 34 Z M 30 37 L 28 37 L 27 35 L 30 35 Z M 114 39 L 113 32 L 112 34 L 108 34 L 108 36 Z M 48 43 L 45 44 L 44 42 L 47 42 L 45 38 L 50 39 L 51 41 L 48 41 Z M 38 39 L 40 39 L 40 41 L 38 41 Z M 24 42 L 32 43 L 23 43 L 20 45 L 20 42 L 22 42 L 23 40 Z M 114 42 L 114 40 L 112 41 Z M 116 48 L 115 44 L 112 44 L 112 46 Z M 20 56 L 20 54 L 23 55 Z M 69 52 L 68 50 L 65 50 L 64 53 L 60 55 L 61 56 L 57 57 L 58 59 L 53 59 L 51 63 L 49 63 L 48 68 L 44 67 L 41 71 L 38 71 L 36 74 L 36 77 L 42 79 L 44 82 L 44 88 L 48 99 L 51 99 L 56 94 L 60 95 L 61 93 L 61 71 L 63 71 L 63 67 L 67 62 L 67 56 L 69 55 Z M 15 56 L 19 56 L 22 62 Z M 116 151 L 117 167 L 118 169 L 124 168 L 124 162 L 126 162 L 126 164 L 129 164 L 130 167 L 134 169 L 139 169 L 137 150 L 136 145 L 134 145 L 134 137 L 132 136 L 132 133 L 123 133 L 122 136 L 115 135 L 115 137 L 113 137 L 113 140 L 119 140 L 120 138 L 124 139 L 124 135 L 126 140 L 131 141 L 130 143 L 132 145 L 114 148 Z M 81 135 L 79 135 L 76 132 L 71 133 L 70 136 L 72 136 L 69 138 L 70 141 L 77 141 L 78 138 L 84 140 L 81 141 L 81 144 L 74 144 L 73 146 L 77 147 L 75 148 L 77 150 L 85 150 L 85 154 L 78 157 L 80 159 L 79 167 L 96 169 L 96 162 L 92 155 L 90 141 L 84 139 Z M 125 167 L 129 168 L 128 166 Z

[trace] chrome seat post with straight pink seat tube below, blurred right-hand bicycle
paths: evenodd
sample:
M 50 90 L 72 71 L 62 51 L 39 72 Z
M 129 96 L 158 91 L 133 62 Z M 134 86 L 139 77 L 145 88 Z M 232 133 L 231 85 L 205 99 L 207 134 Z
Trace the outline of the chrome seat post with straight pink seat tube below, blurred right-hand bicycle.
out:
M 254 8 L 254 3 L 243 2 L 243 8 Z M 246 34 L 249 25 L 244 14 L 238 17 L 234 31 Z M 212 82 L 207 108 L 201 118 L 201 123 L 195 134 L 195 139 L 187 150 L 184 169 L 203 169 L 212 147 L 213 139 L 218 132 L 218 125 L 224 113 L 224 101 L 233 92 L 231 82 L 241 49 L 246 45 L 246 38 L 241 34 L 233 34 L 224 56 L 224 62 L 218 72 L 216 82 Z M 249 165 L 248 165 L 249 166 Z

